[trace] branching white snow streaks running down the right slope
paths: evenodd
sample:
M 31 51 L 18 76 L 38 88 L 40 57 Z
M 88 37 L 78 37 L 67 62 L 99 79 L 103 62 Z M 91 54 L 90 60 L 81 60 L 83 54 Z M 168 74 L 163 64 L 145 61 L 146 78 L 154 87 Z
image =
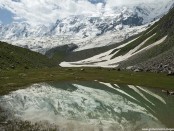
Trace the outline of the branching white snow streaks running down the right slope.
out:
M 156 34 L 154 34 L 154 35 L 156 35 Z M 128 58 L 130 58 L 138 53 L 141 53 L 141 52 L 148 50 L 156 45 L 159 45 L 162 42 L 164 42 L 165 39 L 167 38 L 167 36 L 165 36 L 162 39 L 158 40 L 157 42 L 140 49 L 154 35 L 152 35 L 149 38 L 147 38 L 146 40 L 144 40 L 137 47 L 135 47 L 134 49 L 131 49 L 128 53 L 121 55 L 121 56 L 117 56 L 113 59 L 112 59 L 112 57 L 114 55 L 116 55 L 121 48 L 123 48 L 127 44 L 130 44 L 132 41 L 135 41 L 137 38 L 128 42 L 128 43 L 123 44 L 121 47 L 111 49 L 107 52 L 101 53 L 101 54 L 93 56 L 91 58 L 77 61 L 77 62 L 62 62 L 62 63 L 60 63 L 60 66 L 61 67 L 109 67 L 109 68 L 113 67 L 114 68 L 114 67 L 117 67 L 119 65 L 118 64 L 119 62 L 125 61 Z M 115 49 L 118 49 L 118 50 L 115 53 L 111 54 L 111 52 Z

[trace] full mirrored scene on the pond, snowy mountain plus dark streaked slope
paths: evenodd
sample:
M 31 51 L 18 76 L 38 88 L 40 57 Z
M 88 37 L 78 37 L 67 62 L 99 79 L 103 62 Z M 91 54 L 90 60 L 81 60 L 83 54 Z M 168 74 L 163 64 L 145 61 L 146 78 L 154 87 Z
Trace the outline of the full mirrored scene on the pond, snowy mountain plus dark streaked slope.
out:
M 0 106 L 13 112 L 15 118 L 48 121 L 66 130 L 69 126 L 79 131 L 170 127 L 174 123 L 166 124 L 166 119 L 174 117 L 173 107 L 169 107 L 171 100 L 153 92 L 102 82 L 34 84 L 3 96 Z

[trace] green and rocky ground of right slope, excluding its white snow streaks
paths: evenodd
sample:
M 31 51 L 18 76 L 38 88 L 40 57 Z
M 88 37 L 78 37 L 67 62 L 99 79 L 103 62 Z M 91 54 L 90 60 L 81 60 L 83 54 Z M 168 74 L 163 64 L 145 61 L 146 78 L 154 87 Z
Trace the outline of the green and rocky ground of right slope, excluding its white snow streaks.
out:
M 155 34 L 155 35 L 153 35 Z M 174 68 L 174 8 L 169 11 L 161 20 L 156 22 L 152 27 L 150 27 L 143 35 L 137 39 L 136 42 L 132 42 L 130 45 L 122 48 L 122 50 L 116 54 L 121 55 L 129 50 L 131 50 L 134 44 L 139 45 L 143 40 L 147 39 L 149 36 L 152 36 L 140 49 L 153 44 L 154 42 L 160 40 L 164 36 L 167 36 L 167 39 L 147 50 L 143 51 L 129 60 L 121 63 L 120 66 L 141 66 L 142 68 L 147 68 L 150 70 L 157 70 L 158 68 L 163 68 L 168 66 L 166 71 Z M 161 67 L 159 67 L 161 66 Z M 164 70 L 164 69 L 160 69 Z

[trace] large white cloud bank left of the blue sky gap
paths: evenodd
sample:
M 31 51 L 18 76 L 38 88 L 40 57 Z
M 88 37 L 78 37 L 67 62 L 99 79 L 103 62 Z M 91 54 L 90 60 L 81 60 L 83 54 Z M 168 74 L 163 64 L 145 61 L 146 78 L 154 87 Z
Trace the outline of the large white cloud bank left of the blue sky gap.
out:
M 30 24 L 52 23 L 58 18 L 97 12 L 97 5 L 85 0 L 1 0 L 0 7 Z

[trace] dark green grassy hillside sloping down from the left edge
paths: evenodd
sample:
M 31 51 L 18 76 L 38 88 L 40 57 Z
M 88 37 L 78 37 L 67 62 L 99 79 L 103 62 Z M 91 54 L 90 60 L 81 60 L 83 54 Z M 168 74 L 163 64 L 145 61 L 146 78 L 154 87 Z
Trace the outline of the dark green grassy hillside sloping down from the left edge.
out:
M 0 69 L 28 69 L 56 66 L 44 55 L 0 42 Z

